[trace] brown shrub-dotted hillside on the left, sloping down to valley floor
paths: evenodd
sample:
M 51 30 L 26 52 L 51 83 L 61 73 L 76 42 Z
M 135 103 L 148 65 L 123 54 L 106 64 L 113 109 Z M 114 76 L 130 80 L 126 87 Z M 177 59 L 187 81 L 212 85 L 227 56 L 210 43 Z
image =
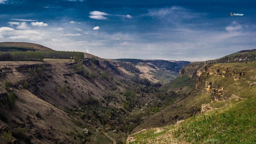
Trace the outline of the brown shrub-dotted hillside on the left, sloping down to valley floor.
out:
M 90 54 L 76 61 L 1 61 L 0 139 L 123 143 L 143 116 L 167 103 L 159 98 L 161 85 L 140 75 L 129 62 Z

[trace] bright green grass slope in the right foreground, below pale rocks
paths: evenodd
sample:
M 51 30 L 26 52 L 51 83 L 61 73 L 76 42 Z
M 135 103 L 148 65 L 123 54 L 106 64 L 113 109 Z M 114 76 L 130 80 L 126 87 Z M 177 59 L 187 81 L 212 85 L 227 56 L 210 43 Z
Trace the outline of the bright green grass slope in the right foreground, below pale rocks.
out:
M 136 134 L 134 142 L 256 143 L 255 104 L 256 97 L 214 102 L 211 105 L 215 110 L 191 117 L 178 126 L 165 126 L 159 134 L 154 134 L 154 130 Z

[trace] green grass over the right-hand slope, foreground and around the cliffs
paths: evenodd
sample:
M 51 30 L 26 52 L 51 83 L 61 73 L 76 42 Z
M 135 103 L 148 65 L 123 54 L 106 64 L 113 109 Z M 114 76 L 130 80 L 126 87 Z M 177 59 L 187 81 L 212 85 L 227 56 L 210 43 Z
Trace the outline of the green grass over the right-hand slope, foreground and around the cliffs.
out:
M 132 136 L 136 141 L 132 143 L 256 143 L 256 86 L 249 87 L 250 83 L 255 82 L 250 77 L 255 76 L 256 64 L 227 63 L 213 66 L 220 68 L 220 72 L 226 68 L 229 71 L 245 72 L 245 75 L 237 81 L 233 78 L 229 79 L 228 76 L 224 78 L 214 75 L 206 78 L 206 74 L 200 76 L 204 77 L 205 81 L 212 82 L 215 87 L 224 87 L 226 98 L 234 94 L 240 97 L 240 100 L 230 98 L 226 101 L 210 103 L 210 94 L 202 93 L 201 90 L 192 91 L 190 96 L 176 104 L 176 111 L 181 109 L 179 105 L 185 102 L 187 104 L 185 109 L 189 106 L 198 107 L 203 103 L 210 103 L 213 110 L 194 115 L 177 126 L 165 126 L 164 131 L 158 134 L 154 134 L 156 129 L 134 134 Z M 178 77 L 164 89 L 184 86 L 192 88 L 192 83 L 192 78 Z

